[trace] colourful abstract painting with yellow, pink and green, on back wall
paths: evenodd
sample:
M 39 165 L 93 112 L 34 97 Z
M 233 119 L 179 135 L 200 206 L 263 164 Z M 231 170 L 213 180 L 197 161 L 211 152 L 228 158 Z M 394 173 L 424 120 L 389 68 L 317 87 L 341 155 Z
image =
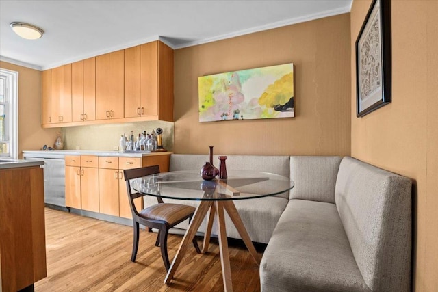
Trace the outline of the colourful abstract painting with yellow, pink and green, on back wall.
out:
M 198 77 L 199 121 L 294 117 L 294 64 Z

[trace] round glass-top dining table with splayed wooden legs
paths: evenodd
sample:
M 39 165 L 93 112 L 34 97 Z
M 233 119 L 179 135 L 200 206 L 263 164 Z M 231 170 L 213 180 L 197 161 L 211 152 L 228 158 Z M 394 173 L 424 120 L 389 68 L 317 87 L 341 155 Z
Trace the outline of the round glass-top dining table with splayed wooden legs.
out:
M 277 174 L 247 170 L 229 170 L 227 179 L 215 178 L 211 181 L 204 181 L 199 172 L 179 171 L 136 178 L 131 181 L 131 185 L 135 191 L 144 195 L 199 201 L 164 282 L 170 284 L 201 222 L 209 213 L 202 253 L 208 250 L 211 228 L 216 220 L 224 291 L 233 291 L 224 213 L 228 213 L 255 263 L 260 265 L 261 256 L 257 254 L 233 200 L 257 199 L 282 194 L 294 187 L 294 181 Z

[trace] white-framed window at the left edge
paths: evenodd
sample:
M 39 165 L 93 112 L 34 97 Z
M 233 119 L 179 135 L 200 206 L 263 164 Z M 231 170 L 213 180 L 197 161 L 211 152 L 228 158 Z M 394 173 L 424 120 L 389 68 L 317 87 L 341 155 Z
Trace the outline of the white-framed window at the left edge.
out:
M 18 158 L 18 72 L 0 69 L 0 157 Z

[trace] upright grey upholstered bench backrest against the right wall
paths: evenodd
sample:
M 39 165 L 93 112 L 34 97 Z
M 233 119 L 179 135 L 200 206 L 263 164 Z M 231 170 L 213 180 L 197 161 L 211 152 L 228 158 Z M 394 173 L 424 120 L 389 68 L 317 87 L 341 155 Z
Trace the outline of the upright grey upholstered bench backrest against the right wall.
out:
M 371 291 L 409 291 L 411 281 L 409 178 L 344 157 L 335 201 L 348 241 Z

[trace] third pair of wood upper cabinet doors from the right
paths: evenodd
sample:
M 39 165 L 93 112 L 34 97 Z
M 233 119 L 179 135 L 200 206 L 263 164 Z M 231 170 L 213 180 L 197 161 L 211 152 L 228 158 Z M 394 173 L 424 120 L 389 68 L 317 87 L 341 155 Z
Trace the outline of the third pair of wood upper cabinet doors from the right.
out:
M 72 120 L 96 120 L 96 58 L 72 64 Z

